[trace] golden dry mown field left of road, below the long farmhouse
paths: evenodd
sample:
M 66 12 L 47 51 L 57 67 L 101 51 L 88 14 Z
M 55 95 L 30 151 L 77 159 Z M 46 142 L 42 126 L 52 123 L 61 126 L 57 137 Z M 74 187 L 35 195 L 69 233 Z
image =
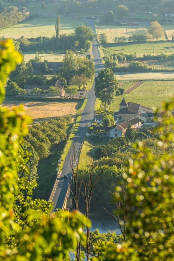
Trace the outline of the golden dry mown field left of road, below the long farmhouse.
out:
M 27 107 L 26 114 L 33 119 L 33 123 L 49 121 L 58 116 L 71 115 L 75 117 L 77 108 L 81 102 L 19 102 L 5 100 L 3 105 L 12 108 L 24 104 Z

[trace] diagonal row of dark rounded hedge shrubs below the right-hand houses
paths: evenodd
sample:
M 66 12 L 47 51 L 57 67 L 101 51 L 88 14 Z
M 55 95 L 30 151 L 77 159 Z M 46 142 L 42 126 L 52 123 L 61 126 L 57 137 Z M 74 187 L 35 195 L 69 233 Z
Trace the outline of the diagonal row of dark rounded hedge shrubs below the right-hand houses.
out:
M 95 151 L 96 158 L 101 157 L 109 157 L 113 152 L 117 152 L 119 148 L 122 148 L 126 144 L 129 143 L 129 139 L 124 137 L 118 137 L 116 139 L 111 140 L 106 145 L 102 145 Z

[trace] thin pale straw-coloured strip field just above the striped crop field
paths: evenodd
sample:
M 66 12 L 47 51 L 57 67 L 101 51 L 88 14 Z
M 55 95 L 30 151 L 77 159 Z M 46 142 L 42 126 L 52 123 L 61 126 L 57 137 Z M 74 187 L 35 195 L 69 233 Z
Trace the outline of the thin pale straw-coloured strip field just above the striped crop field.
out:
M 123 77 L 119 73 L 115 73 L 115 75 L 119 81 L 174 79 L 173 72 L 122 73 Z

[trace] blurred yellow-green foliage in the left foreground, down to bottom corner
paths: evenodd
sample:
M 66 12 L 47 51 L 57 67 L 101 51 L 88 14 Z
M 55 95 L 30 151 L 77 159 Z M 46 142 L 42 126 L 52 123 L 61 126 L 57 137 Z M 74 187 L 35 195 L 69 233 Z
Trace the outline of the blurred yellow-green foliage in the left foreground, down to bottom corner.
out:
M 4 98 L 8 74 L 20 63 L 22 57 L 14 50 L 12 41 L 1 42 L 0 49 L 0 101 Z M 0 248 L 2 260 L 65 260 L 69 251 L 75 250 L 78 240 L 83 243 L 83 233 L 90 222 L 80 213 L 50 213 L 51 204 L 45 200 L 32 200 L 36 183 L 27 180 L 28 152 L 21 148 L 27 135 L 23 106 L 0 113 Z M 37 139 L 36 139 L 37 140 Z M 18 172 L 26 174 L 19 179 Z M 51 240 L 50 240 L 51 239 Z M 58 246 L 59 243 L 59 246 Z M 61 244 L 60 244 L 61 243 Z

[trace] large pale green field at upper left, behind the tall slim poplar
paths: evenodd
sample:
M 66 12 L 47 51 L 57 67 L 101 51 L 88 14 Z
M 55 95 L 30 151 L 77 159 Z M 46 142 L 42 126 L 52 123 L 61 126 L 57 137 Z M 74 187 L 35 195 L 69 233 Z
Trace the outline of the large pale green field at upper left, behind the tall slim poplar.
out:
M 6 38 L 20 38 L 21 35 L 30 38 L 38 36 L 51 37 L 55 34 L 55 21 L 56 17 L 37 17 L 33 20 L 25 21 L 23 23 L 7 27 L 0 30 L 0 37 Z M 73 20 L 61 18 L 61 30 L 60 34 L 72 33 L 74 29 L 79 25 L 84 25 L 83 20 Z

